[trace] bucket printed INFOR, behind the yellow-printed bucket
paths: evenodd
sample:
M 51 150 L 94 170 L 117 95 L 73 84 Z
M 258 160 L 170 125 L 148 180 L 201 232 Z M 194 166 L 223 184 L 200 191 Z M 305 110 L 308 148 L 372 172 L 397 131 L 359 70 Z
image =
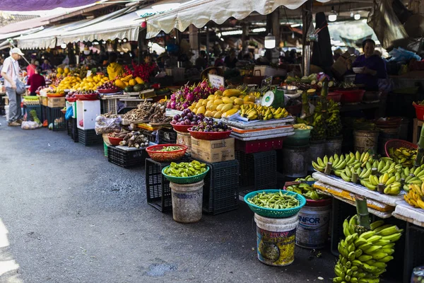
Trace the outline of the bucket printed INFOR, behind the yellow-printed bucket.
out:
M 302 248 L 324 248 L 329 236 L 331 199 L 307 202 L 299 212 L 296 245 Z

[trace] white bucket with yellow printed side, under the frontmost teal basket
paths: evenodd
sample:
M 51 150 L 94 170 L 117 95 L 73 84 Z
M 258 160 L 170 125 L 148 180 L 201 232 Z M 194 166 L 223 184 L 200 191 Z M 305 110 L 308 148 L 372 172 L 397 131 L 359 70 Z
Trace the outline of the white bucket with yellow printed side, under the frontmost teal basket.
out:
M 285 266 L 295 260 L 299 216 L 268 218 L 254 214 L 257 224 L 258 260 L 266 265 Z

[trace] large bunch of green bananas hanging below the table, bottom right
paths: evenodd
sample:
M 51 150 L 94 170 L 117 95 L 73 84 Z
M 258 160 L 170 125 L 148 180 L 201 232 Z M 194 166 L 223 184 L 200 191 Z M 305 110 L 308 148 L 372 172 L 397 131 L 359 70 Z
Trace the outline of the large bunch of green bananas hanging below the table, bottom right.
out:
M 371 230 L 357 225 L 358 217 L 343 222 L 346 238 L 338 243 L 338 262 L 334 267 L 333 282 L 377 283 L 379 275 L 386 271 L 387 262 L 393 259 L 394 242 L 402 236 L 402 229 L 384 225 L 379 220 L 371 224 Z

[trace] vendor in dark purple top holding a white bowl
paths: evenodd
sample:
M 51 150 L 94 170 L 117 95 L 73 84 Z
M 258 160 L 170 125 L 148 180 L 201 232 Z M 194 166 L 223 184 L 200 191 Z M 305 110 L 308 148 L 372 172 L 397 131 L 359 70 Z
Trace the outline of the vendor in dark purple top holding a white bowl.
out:
M 363 68 L 360 71 L 355 71 L 355 84 L 365 85 L 366 91 L 378 91 L 378 80 L 386 79 L 387 71 L 384 60 L 374 53 L 374 40 L 364 40 L 364 54 L 360 55 L 355 62 L 348 59 L 348 68 Z

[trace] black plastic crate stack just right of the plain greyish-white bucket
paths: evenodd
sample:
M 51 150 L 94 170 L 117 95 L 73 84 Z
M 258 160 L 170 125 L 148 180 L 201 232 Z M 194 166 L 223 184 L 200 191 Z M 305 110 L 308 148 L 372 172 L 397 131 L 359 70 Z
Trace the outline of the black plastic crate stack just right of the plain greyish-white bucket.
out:
M 204 179 L 203 210 L 220 214 L 238 208 L 239 174 L 237 160 L 206 163 L 210 170 Z

